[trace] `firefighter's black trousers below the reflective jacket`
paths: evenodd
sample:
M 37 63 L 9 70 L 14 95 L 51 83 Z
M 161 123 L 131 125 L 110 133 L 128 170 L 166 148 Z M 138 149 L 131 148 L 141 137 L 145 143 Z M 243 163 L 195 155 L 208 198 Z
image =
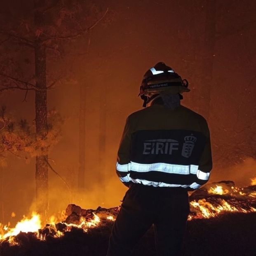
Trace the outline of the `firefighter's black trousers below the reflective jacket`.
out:
M 135 244 L 152 224 L 157 254 L 180 256 L 188 214 L 187 191 L 132 185 L 113 225 L 107 256 L 132 255 Z

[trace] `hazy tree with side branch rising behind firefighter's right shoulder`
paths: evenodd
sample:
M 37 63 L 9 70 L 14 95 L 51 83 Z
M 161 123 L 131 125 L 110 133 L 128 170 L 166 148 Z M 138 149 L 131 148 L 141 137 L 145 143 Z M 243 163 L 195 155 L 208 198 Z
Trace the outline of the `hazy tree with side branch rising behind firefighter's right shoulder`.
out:
M 233 3 L 235 6 L 236 3 Z M 229 6 L 232 7 L 231 4 Z M 230 35 L 235 35 L 241 33 L 241 31 L 245 31 L 256 23 L 256 19 L 242 20 L 240 21 L 240 17 L 233 17 L 232 21 L 235 19 L 235 26 L 232 22 L 230 25 L 221 27 L 218 25 L 220 21 L 221 24 L 225 24 L 223 19 L 226 14 L 225 8 L 218 3 L 217 0 L 207 0 L 204 1 L 204 9 L 205 9 L 205 25 L 204 25 L 204 35 L 202 37 L 202 51 L 200 53 L 201 56 L 201 64 L 200 70 L 202 75 L 200 77 L 200 89 L 198 95 L 200 95 L 197 99 L 197 105 L 200 114 L 202 114 L 206 119 L 209 119 L 209 110 L 211 103 L 211 85 L 212 85 L 212 74 L 213 74 L 213 66 L 214 66 L 214 51 L 216 44 L 220 40 L 224 40 Z M 235 16 L 233 14 L 233 16 Z M 243 15 L 244 16 L 244 15 Z M 236 21 L 239 22 L 236 22 Z M 221 28 L 219 28 L 221 27 Z

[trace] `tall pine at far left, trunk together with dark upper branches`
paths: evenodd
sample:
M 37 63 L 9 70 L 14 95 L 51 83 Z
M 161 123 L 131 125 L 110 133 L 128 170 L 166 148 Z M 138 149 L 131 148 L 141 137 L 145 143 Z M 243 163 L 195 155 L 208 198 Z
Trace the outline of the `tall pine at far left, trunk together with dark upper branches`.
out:
M 15 1 L 14 1 L 15 2 Z M 15 2 L 16 3 L 16 2 Z M 22 47 L 29 47 L 30 55 L 27 57 L 31 63 L 34 59 L 34 70 L 23 70 L 20 64 L 15 66 L 15 58 L 1 56 L 0 76 L 2 84 L 0 92 L 9 89 L 24 90 L 26 95 L 29 90 L 35 91 L 35 131 L 36 139 L 44 141 L 49 131 L 47 122 L 47 91 L 54 89 L 57 83 L 61 83 L 60 73 L 51 77 L 47 70 L 47 63 L 52 59 L 50 56 L 62 57 L 65 43 L 73 42 L 77 38 L 92 30 L 106 15 L 106 12 L 97 11 L 96 7 L 89 7 L 82 0 L 33 0 L 29 1 L 28 9 L 14 9 L 14 3 L 10 4 L 10 12 L 15 12 L 15 19 L 0 28 L 0 33 L 5 36 L 2 44 L 6 49 L 9 42 Z M 6 6 L 4 6 L 7 8 Z M 30 9 L 29 9 L 30 8 Z M 2 8 L 3 9 L 3 8 Z M 14 9 L 14 10 L 13 10 Z M 33 13 L 33 16 L 31 16 Z M 91 14 L 94 14 L 92 17 Z M 28 18 L 23 17 L 29 14 Z M 21 19 L 17 19 L 19 16 Z M 9 13 L 2 16 L 4 20 L 10 20 Z M 2 24 L 5 24 L 2 21 Z M 82 24 L 88 24 L 84 26 Z M 26 49 L 27 51 L 27 49 Z M 22 56 L 24 53 L 19 52 Z M 11 67 L 6 63 L 12 63 Z M 23 76 L 23 77 L 22 77 Z M 65 77 L 65 76 L 64 76 Z M 63 80 L 63 78 L 62 78 Z M 36 150 L 36 199 L 38 211 L 47 214 L 48 211 L 48 149 L 44 145 Z

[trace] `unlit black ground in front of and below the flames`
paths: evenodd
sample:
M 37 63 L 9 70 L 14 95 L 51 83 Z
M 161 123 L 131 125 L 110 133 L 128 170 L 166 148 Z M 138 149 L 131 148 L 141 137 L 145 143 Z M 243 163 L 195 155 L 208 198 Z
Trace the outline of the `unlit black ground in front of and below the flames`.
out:
M 84 233 L 74 228 L 46 241 L 20 237 L 19 246 L 0 244 L 0 256 L 106 256 L 113 223 Z M 184 256 L 256 256 L 256 213 L 227 213 L 188 221 Z M 157 256 L 153 228 L 139 241 L 132 256 Z

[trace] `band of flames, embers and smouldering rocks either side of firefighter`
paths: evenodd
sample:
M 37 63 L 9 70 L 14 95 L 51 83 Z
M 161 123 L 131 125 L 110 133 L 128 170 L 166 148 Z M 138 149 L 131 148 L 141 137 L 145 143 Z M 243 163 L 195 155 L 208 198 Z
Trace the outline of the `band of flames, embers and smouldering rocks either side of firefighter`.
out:
M 17 237 L 25 233 L 38 240 L 46 240 L 47 236 L 61 237 L 72 228 L 82 229 L 87 233 L 89 229 L 115 221 L 119 210 L 120 207 L 85 210 L 69 204 L 65 214 L 62 214 L 65 220 L 58 221 L 58 218 L 51 216 L 45 227 L 42 225 L 41 216 L 33 212 L 31 217 L 23 216 L 14 228 L 0 223 L 0 243 L 19 244 Z M 256 186 L 237 188 L 232 181 L 222 181 L 211 183 L 190 196 L 189 221 L 217 217 L 227 212 L 256 212 Z

